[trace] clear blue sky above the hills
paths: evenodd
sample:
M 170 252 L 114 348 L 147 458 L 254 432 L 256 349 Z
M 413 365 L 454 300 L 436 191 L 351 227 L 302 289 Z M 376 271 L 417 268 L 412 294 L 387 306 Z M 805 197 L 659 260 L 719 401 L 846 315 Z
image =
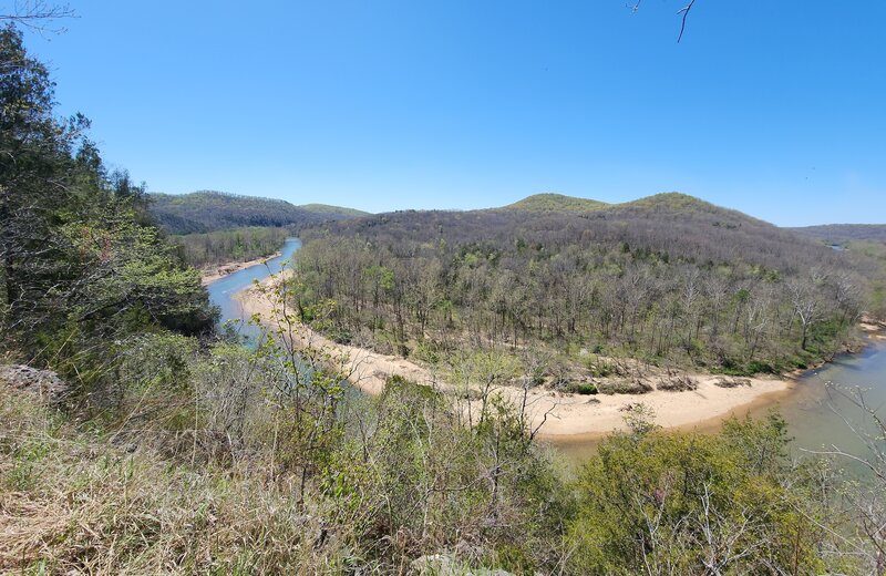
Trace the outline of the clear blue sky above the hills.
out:
M 678 44 L 684 2 L 72 1 L 28 42 L 155 192 L 886 222 L 886 2 L 698 0 Z

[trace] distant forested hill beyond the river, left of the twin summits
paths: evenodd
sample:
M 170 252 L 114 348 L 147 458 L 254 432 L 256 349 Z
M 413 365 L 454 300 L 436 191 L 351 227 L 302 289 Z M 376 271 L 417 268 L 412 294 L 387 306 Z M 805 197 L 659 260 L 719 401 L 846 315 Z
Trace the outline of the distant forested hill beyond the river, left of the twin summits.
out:
M 190 234 L 241 226 L 305 226 L 365 215 L 323 204 L 296 206 L 286 200 L 202 191 L 151 194 L 151 213 L 171 234 Z

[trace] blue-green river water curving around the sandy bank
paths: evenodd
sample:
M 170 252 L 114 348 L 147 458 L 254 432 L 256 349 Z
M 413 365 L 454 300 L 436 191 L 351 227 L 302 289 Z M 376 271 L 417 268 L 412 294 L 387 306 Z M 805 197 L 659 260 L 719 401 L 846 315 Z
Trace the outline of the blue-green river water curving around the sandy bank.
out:
M 301 247 L 298 238 L 288 238 L 280 249 L 280 256 L 236 271 L 207 286 L 210 301 L 222 310 L 222 321 L 243 321 L 240 333 L 247 339 L 258 335 L 256 327 L 247 323 L 243 306 L 234 295 L 261 280 L 268 275 L 277 274 Z M 800 455 L 805 451 L 838 446 L 843 450 L 862 452 L 857 436 L 852 426 L 863 428 L 869 422 L 869 415 L 835 393 L 834 383 L 841 387 L 858 387 L 865 390 L 865 400 L 878 415 L 886 418 L 886 341 L 873 337 L 869 344 L 857 354 L 845 354 L 833 362 L 806 372 L 797 379 L 791 391 L 783 394 L 773 404 L 761 408 L 736 410 L 736 415 L 751 413 L 762 415 L 770 408 L 776 408 L 789 423 L 789 432 L 794 436 L 793 450 Z M 703 426 L 711 430 L 708 424 Z M 587 445 L 569 443 L 558 449 L 571 460 L 583 460 L 593 452 L 594 443 Z

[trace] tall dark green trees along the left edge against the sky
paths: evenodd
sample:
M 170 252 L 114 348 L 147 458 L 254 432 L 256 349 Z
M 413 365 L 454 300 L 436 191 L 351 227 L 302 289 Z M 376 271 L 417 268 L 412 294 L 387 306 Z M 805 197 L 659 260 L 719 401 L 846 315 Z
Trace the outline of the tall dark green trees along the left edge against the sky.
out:
M 54 116 L 47 69 L 0 30 L 0 330 L 3 351 L 80 392 L 113 380 L 145 332 L 212 329 L 199 275 L 151 224 L 144 186 L 109 174 L 82 116 Z

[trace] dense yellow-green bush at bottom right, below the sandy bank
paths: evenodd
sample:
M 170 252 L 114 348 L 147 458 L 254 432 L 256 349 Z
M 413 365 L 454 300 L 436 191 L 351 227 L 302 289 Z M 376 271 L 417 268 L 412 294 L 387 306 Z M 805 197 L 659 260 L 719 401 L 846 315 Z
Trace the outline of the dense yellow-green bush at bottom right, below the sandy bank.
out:
M 584 467 L 570 525 L 585 574 L 813 574 L 825 511 L 785 456 L 777 416 L 728 422 L 717 435 L 621 433 Z M 837 564 L 828 565 L 831 562 Z

